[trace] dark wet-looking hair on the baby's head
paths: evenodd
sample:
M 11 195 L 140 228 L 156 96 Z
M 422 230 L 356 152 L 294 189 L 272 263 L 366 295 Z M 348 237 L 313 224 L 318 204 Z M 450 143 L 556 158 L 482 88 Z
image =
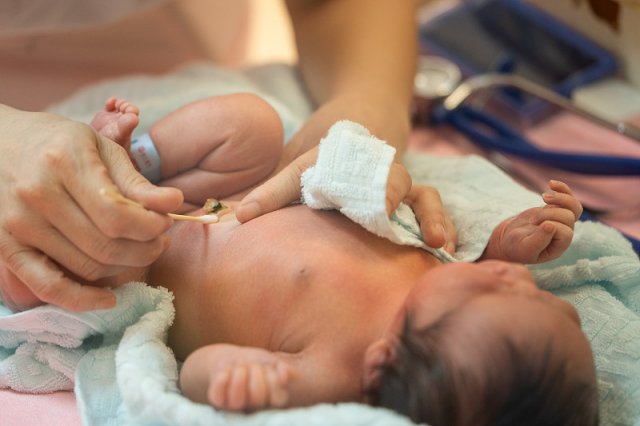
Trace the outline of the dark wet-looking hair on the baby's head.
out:
M 486 336 L 492 355 L 481 355 L 483 372 L 472 372 L 450 355 L 449 320 L 415 330 L 405 319 L 397 356 L 369 395 L 373 405 L 431 426 L 598 424 L 596 384 L 572 377 L 550 342 L 540 351 Z

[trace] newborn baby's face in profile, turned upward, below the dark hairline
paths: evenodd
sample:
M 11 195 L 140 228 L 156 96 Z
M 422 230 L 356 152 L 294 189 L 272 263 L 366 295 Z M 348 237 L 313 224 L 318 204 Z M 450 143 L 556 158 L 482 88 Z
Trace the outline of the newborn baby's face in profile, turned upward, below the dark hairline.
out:
M 470 353 L 482 350 L 488 336 L 501 335 L 532 350 L 550 343 L 573 372 L 594 380 L 591 348 L 576 310 L 540 290 L 524 266 L 484 261 L 431 269 L 407 296 L 405 307 L 418 329 L 450 315 L 452 355 L 472 368 Z

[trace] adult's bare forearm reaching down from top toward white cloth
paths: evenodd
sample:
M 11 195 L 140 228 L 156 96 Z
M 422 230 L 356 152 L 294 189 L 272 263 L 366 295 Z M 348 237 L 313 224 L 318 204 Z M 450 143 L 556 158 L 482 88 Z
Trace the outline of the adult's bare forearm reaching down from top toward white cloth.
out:
M 332 105 L 327 121 L 358 121 L 402 153 L 415 73 L 415 2 L 287 4 L 307 88 L 320 108 Z

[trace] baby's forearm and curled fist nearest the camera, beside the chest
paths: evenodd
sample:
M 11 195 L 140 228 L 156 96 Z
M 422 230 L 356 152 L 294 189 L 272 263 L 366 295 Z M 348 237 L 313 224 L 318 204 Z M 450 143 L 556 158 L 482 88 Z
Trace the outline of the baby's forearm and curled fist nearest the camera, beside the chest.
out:
M 180 386 L 189 399 L 229 411 L 353 400 L 358 381 L 345 383 L 341 378 L 348 375 L 340 374 L 337 363 L 327 359 L 230 344 L 208 345 L 187 357 Z

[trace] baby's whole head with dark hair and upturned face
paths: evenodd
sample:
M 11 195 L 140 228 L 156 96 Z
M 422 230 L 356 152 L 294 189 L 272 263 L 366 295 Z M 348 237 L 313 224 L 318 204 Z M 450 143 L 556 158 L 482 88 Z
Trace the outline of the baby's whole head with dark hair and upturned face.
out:
M 373 404 L 433 426 L 598 423 L 593 356 L 578 315 L 539 290 L 526 268 L 435 268 L 399 318 L 389 346 L 367 352 L 378 364 Z

